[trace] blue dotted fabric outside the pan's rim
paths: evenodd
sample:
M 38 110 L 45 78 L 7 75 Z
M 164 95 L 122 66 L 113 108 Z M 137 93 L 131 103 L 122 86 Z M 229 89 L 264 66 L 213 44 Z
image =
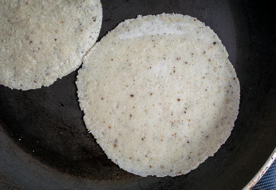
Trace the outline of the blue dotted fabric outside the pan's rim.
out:
M 252 190 L 276 190 L 276 160 Z

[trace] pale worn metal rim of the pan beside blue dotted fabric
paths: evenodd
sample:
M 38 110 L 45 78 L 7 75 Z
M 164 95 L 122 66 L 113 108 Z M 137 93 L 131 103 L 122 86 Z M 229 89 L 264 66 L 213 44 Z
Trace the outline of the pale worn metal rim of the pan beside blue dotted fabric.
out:
M 272 165 L 274 160 L 276 159 L 276 147 L 273 150 L 272 154 L 269 156 L 267 161 L 264 163 L 264 165 L 261 167 L 259 172 L 247 183 L 247 185 L 242 190 L 250 190 L 258 181 L 264 176 L 264 174 L 267 172 L 269 167 Z

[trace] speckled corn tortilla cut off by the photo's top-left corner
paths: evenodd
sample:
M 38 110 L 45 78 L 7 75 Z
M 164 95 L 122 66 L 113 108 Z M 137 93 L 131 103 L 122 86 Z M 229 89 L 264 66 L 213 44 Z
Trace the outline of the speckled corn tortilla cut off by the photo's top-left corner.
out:
M 0 1 L 0 84 L 49 86 L 81 65 L 102 24 L 100 0 Z

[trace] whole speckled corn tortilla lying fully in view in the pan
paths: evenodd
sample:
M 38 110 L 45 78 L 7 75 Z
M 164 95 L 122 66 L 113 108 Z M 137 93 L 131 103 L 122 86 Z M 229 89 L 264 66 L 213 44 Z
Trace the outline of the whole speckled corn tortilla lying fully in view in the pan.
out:
M 141 176 L 189 172 L 225 143 L 240 85 L 218 36 L 180 14 L 125 20 L 84 57 L 86 127 L 113 162 Z

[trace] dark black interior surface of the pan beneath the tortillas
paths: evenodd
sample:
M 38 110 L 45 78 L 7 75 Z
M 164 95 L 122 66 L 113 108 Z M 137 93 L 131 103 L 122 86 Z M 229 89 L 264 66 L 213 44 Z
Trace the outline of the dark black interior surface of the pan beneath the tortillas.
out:
M 186 175 L 141 177 L 107 159 L 87 132 L 77 70 L 36 90 L 0 85 L 0 189 L 242 189 L 276 145 L 274 10 L 249 0 L 101 2 L 98 40 L 125 19 L 163 12 L 196 17 L 218 34 L 240 80 L 231 136 Z

